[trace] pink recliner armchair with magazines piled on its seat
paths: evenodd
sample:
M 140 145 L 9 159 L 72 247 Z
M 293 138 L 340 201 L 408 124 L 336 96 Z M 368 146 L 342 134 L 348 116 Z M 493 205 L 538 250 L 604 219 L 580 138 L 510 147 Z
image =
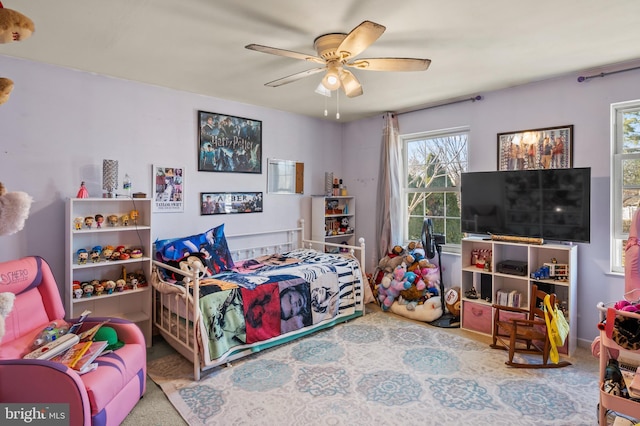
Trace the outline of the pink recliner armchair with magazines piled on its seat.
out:
M 71 425 L 119 425 L 146 390 L 147 358 L 142 332 L 128 321 L 109 326 L 125 345 L 98 357 L 95 371 L 79 375 L 66 366 L 25 360 L 34 339 L 65 312 L 53 274 L 40 257 L 0 263 L 0 292 L 16 295 L 0 341 L 0 402 L 66 403 Z M 103 318 L 89 317 L 88 324 Z

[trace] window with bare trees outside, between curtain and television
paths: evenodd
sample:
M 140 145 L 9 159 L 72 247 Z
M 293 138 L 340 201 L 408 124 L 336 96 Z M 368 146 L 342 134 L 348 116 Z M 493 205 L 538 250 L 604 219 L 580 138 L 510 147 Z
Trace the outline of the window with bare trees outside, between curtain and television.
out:
M 422 223 L 446 237 L 445 251 L 459 252 L 460 174 L 467 171 L 469 129 L 457 128 L 400 137 L 404 149 L 404 236 L 420 241 Z

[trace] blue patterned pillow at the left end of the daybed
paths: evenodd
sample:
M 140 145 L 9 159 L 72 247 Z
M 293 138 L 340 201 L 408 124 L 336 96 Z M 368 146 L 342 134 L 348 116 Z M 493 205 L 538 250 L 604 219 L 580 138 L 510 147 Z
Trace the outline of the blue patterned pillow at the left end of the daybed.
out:
M 156 241 L 156 260 L 161 262 L 179 263 L 191 253 L 202 253 L 207 275 L 224 272 L 234 266 L 224 235 L 224 224 L 202 234 Z

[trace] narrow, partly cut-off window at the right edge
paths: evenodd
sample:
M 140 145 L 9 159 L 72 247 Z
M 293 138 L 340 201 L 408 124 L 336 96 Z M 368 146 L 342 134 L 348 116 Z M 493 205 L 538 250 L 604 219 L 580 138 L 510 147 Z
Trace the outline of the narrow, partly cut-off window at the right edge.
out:
M 611 107 L 611 270 L 624 272 L 624 246 L 640 203 L 640 100 Z

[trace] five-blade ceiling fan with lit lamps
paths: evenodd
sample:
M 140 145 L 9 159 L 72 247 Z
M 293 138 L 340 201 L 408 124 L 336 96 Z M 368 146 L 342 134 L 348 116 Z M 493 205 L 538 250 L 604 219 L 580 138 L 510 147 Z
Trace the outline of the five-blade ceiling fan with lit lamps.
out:
M 383 25 L 371 21 L 364 21 L 351 30 L 349 34 L 323 34 L 313 42 L 313 47 L 318 53 L 318 56 L 262 46 L 260 44 L 248 44 L 245 48 L 322 65 L 318 68 L 270 81 L 266 83 L 265 86 L 278 87 L 326 71 L 322 79 L 322 85 L 328 90 L 337 90 L 342 87 L 345 94 L 353 98 L 362 95 L 362 85 L 347 67 L 370 71 L 424 71 L 429 68 L 429 64 L 431 63 L 429 59 L 355 59 L 356 56 L 373 44 L 373 42 L 384 33 L 385 29 Z

